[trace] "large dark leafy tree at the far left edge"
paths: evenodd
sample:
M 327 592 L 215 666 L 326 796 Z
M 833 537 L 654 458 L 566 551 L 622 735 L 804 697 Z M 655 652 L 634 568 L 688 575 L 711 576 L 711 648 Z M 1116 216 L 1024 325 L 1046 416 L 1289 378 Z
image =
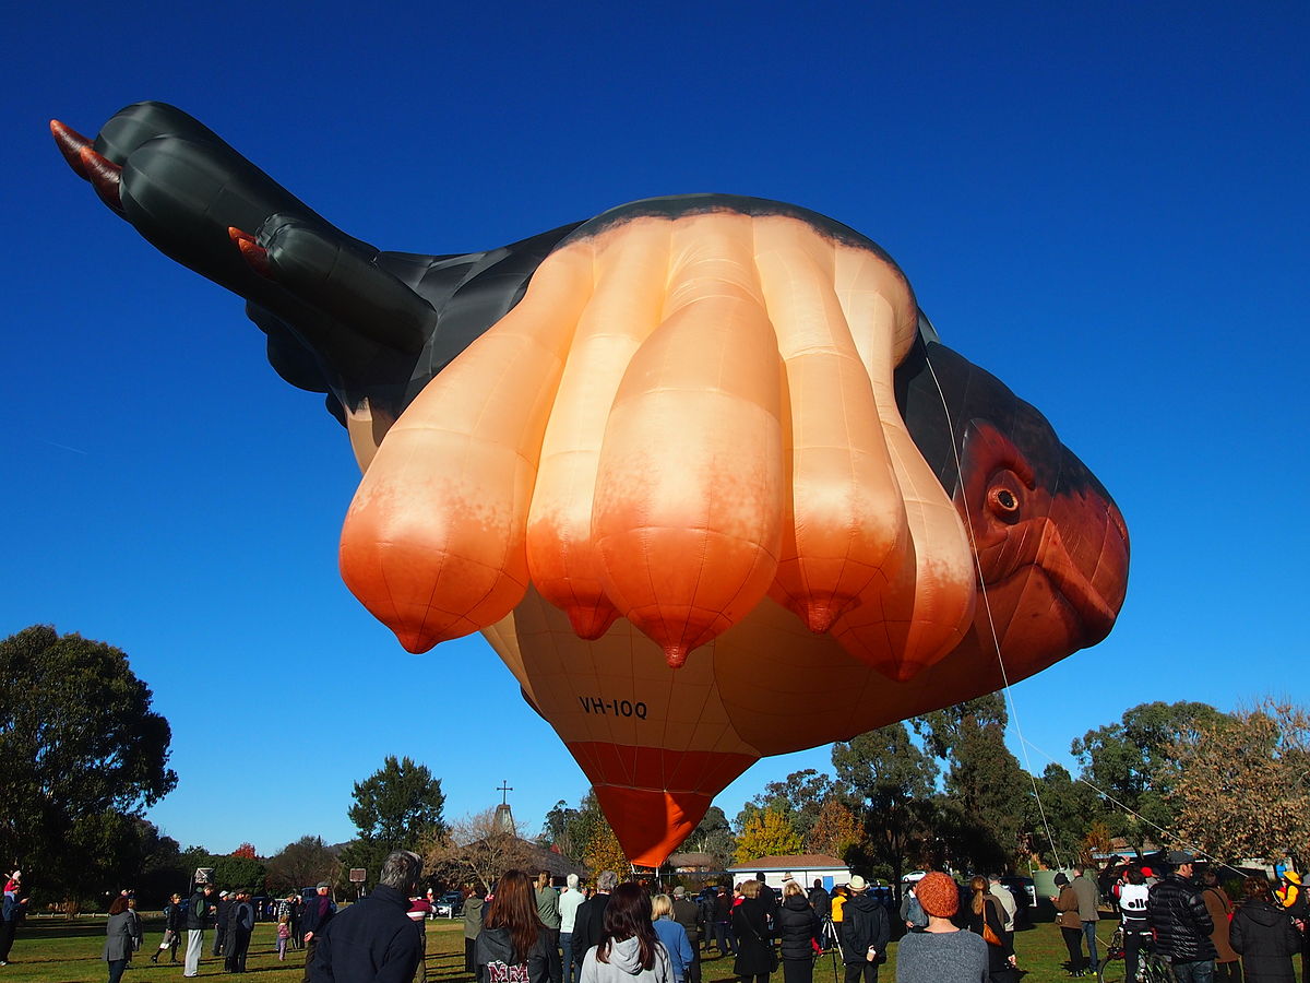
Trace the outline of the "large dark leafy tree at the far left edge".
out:
M 105 642 L 48 625 L 0 641 L 0 856 L 39 869 L 43 893 L 92 887 L 88 851 L 127 851 L 134 819 L 177 785 L 172 731 L 151 700 Z

